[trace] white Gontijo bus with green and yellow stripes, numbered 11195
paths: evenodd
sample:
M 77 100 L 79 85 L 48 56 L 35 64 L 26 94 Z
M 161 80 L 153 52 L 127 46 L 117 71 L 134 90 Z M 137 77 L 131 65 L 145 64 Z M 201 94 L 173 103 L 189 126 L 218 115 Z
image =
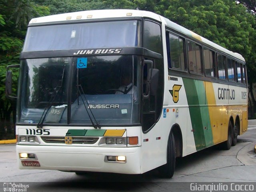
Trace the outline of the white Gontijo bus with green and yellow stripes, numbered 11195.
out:
M 20 60 L 20 169 L 170 178 L 247 130 L 244 58 L 152 12 L 32 19 Z

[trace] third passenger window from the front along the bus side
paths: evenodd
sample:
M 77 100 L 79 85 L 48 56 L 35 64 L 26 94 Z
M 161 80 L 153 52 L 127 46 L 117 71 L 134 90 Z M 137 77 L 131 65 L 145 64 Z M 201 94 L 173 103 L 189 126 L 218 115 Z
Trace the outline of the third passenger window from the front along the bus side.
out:
M 213 52 L 204 48 L 204 70 L 207 76 L 215 77 L 214 74 L 214 63 L 213 63 Z

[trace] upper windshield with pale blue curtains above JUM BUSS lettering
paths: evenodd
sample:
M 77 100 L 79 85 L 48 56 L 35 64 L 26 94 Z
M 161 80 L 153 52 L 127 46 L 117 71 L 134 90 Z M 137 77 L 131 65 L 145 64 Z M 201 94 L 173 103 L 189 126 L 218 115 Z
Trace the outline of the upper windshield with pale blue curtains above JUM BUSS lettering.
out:
M 32 26 L 23 52 L 138 46 L 136 20 Z

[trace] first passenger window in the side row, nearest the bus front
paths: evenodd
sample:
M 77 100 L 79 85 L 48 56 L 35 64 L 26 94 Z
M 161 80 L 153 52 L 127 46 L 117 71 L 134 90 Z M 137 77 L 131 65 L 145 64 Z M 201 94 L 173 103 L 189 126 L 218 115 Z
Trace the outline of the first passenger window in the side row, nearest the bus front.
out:
M 185 70 L 184 39 L 169 33 L 170 60 L 169 68 Z

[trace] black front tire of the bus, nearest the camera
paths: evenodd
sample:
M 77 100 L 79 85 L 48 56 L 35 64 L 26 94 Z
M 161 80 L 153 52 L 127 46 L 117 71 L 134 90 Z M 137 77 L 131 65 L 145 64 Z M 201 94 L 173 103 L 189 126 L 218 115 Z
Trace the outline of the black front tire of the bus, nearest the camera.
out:
M 161 175 L 165 178 L 172 178 L 175 169 L 175 160 L 176 160 L 176 152 L 175 152 L 175 140 L 174 135 L 171 132 L 168 138 L 167 144 L 167 163 L 161 168 Z

